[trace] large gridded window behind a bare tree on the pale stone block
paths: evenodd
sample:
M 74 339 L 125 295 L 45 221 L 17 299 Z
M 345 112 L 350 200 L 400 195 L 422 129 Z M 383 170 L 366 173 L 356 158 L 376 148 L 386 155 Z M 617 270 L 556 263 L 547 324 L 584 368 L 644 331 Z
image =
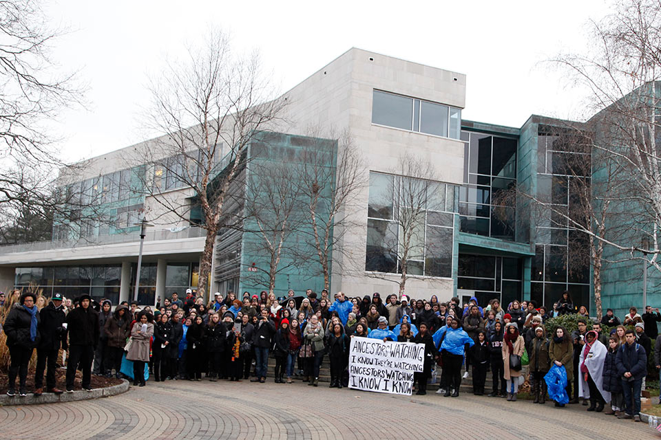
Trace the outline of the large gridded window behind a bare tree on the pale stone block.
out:
M 451 277 L 457 192 L 437 181 L 370 172 L 365 270 L 401 272 L 406 253 L 408 274 Z

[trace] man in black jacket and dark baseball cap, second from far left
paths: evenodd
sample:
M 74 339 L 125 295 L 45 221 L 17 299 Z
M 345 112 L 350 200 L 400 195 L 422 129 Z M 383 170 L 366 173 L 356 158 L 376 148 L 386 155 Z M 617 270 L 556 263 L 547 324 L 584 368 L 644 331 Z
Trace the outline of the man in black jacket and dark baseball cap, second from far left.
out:
M 67 329 L 63 326 L 67 316 L 64 314 L 62 300 L 62 294 L 54 293 L 50 298 L 50 303 L 39 311 L 41 342 L 36 347 L 35 397 L 39 397 L 43 393 L 43 371 L 47 365 L 46 388 L 48 393 L 62 394 L 62 391 L 55 387 L 57 353 L 60 345 L 63 350 L 67 349 Z

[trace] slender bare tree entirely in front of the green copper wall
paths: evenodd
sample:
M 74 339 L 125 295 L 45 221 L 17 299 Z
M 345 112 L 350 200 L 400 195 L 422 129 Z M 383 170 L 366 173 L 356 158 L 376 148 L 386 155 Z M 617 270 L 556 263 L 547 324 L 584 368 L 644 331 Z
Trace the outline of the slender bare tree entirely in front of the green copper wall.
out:
M 291 238 L 304 221 L 296 168 L 285 162 L 254 158 L 249 165 L 243 225 L 245 248 L 251 255 L 264 256 L 267 264 L 250 265 L 257 272 L 245 272 L 244 278 L 266 287 L 269 294 L 275 291 L 277 275 L 299 263 L 291 252 L 302 244 L 292 243 Z

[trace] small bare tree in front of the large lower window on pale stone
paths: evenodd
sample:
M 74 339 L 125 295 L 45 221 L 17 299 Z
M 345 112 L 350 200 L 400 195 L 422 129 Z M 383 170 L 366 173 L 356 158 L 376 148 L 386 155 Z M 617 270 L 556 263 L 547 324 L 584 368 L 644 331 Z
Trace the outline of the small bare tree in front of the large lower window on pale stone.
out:
M 393 174 L 392 188 L 389 188 L 390 194 L 394 195 L 392 219 L 379 253 L 388 254 L 396 266 L 393 269 L 399 273 L 396 282 L 401 295 L 411 276 L 428 277 L 424 270 L 426 251 L 431 250 L 426 249 L 427 214 L 445 210 L 445 185 L 436 181 L 434 166 L 422 159 L 400 157 Z M 367 259 L 370 259 L 369 253 Z M 393 281 L 392 276 L 382 272 L 368 272 L 368 275 Z

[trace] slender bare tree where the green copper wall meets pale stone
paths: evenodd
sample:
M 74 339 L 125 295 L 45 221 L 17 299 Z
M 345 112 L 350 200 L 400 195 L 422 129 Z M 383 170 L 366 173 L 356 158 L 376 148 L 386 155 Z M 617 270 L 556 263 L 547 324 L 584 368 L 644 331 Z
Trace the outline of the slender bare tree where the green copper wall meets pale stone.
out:
M 329 137 L 335 136 L 331 133 Z M 348 133 L 342 133 L 332 143 L 320 138 L 318 133 L 313 139 L 315 141 L 304 148 L 298 179 L 307 211 L 308 228 L 302 228 L 302 233 L 316 252 L 324 276 L 324 289 L 328 290 L 332 254 L 348 258 L 350 252 L 344 245 L 344 234 L 356 226 L 350 217 L 359 191 L 368 182 L 364 160 Z M 339 261 L 335 259 L 333 263 L 339 264 Z

